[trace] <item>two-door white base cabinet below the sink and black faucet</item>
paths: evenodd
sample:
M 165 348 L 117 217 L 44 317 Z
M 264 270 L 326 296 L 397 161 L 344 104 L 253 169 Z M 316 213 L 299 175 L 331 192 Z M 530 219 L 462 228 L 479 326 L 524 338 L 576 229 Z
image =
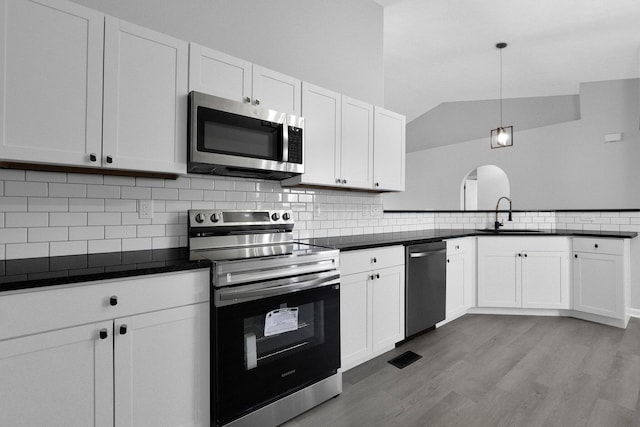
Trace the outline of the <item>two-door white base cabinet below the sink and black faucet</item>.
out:
M 569 239 L 479 237 L 478 307 L 571 308 Z

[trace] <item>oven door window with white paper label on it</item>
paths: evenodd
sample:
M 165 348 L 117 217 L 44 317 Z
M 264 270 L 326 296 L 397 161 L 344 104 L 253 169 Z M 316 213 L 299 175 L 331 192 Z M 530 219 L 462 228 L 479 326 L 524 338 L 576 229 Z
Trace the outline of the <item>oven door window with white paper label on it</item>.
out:
M 244 319 L 245 370 L 324 343 L 324 302 L 280 307 Z

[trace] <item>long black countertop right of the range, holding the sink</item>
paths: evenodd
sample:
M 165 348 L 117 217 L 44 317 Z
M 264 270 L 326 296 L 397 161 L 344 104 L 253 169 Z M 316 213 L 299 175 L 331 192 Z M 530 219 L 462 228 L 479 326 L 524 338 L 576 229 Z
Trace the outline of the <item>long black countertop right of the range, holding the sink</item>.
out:
M 630 239 L 638 233 L 633 231 L 588 231 L 588 230 L 508 230 L 499 232 L 462 230 L 462 229 L 438 229 L 403 231 L 398 233 L 361 234 L 356 236 L 323 237 L 305 240 L 305 242 L 340 249 L 341 251 L 353 251 L 358 249 L 370 249 L 379 246 L 410 245 L 417 243 L 437 242 L 439 240 L 453 239 L 467 236 L 572 236 L 572 237 L 607 237 Z

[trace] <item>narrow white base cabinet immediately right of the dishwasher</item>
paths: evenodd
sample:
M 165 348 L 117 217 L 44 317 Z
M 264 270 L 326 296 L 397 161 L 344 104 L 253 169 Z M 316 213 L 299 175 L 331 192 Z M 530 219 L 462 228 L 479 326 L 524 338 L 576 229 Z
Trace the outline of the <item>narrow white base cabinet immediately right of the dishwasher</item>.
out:
M 447 291 L 445 322 L 475 306 L 476 238 L 447 240 Z

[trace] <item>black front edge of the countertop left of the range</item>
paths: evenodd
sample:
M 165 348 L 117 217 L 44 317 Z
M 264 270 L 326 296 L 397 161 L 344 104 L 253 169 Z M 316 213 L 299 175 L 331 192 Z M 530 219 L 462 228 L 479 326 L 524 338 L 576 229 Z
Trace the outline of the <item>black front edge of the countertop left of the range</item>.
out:
M 0 296 L 2 292 L 19 291 L 35 288 L 46 288 L 49 286 L 71 285 L 82 282 L 96 282 L 101 280 L 132 278 L 136 276 L 144 276 L 149 274 L 170 273 L 175 271 L 196 270 L 200 268 L 210 268 L 209 261 L 184 261 L 176 264 L 168 264 L 162 266 L 145 267 L 145 268 L 124 268 L 118 271 L 98 272 L 88 274 L 78 274 L 73 276 L 50 277 L 43 279 L 31 279 L 15 282 L 0 283 Z

